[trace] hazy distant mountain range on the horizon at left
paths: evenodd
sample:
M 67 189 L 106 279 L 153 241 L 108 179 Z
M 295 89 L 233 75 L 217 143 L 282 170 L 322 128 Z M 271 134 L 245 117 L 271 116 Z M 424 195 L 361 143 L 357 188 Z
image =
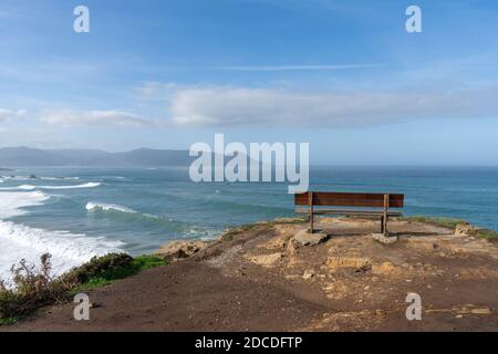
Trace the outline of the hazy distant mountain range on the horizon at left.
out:
M 141 148 L 127 153 L 95 149 L 0 148 L 0 167 L 22 166 L 189 166 L 188 150 Z

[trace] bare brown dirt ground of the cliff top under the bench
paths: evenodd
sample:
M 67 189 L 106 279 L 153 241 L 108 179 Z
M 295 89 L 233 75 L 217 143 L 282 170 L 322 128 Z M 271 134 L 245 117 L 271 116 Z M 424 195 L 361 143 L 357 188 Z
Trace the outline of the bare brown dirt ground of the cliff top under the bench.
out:
M 43 309 L 3 331 L 497 331 L 498 247 L 430 225 L 322 219 L 328 239 L 301 246 L 303 223 L 259 225 L 196 256 Z M 408 321 L 408 293 L 422 321 Z

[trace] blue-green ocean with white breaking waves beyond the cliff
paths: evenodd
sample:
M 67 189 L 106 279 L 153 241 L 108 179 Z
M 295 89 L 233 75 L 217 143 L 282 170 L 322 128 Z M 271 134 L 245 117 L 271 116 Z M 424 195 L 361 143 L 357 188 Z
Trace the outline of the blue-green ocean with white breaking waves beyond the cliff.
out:
M 0 176 L 3 279 L 44 252 L 60 274 L 93 256 L 144 254 L 168 240 L 294 215 L 286 184 L 194 184 L 187 168 L 23 167 Z M 498 168 L 313 167 L 310 178 L 313 190 L 403 192 L 407 216 L 498 229 Z

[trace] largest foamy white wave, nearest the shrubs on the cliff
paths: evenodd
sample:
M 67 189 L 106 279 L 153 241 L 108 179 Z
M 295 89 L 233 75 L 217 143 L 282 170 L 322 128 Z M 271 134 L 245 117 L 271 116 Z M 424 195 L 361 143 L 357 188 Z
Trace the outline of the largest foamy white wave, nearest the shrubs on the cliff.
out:
M 11 221 L 0 220 L 0 278 L 10 279 L 10 267 L 25 259 L 38 264 L 40 256 L 52 254 L 54 275 L 77 267 L 92 257 L 110 252 L 123 252 L 121 241 L 87 237 L 70 231 L 34 229 Z

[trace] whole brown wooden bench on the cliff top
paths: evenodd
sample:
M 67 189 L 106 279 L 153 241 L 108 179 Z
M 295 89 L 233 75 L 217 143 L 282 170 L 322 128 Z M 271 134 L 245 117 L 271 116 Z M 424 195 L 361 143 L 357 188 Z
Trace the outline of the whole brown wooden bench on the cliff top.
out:
M 403 208 L 404 199 L 405 196 L 398 194 L 309 191 L 294 195 L 295 206 L 301 207 L 295 211 L 308 214 L 310 217 L 310 232 L 314 231 L 314 216 L 333 215 L 380 217 L 381 232 L 388 235 L 388 218 L 403 216 L 401 211 L 391 209 Z M 303 206 L 307 208 L 302 208 Z M 349 209 L 323 207 L 349 207 Z

